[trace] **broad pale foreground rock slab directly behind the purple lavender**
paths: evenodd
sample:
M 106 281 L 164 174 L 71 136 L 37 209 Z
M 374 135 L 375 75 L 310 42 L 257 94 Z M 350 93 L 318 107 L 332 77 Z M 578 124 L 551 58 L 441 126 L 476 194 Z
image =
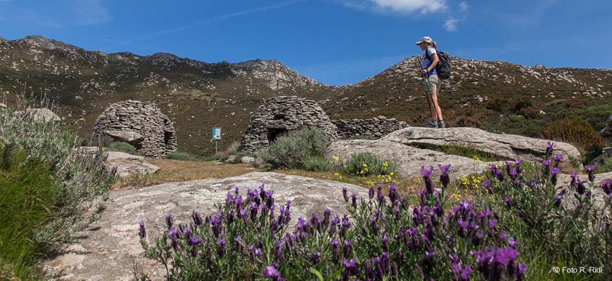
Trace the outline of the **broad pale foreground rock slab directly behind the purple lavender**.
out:
M 46 261 L 45 266 L 58 273 L 58 280 L 106 281 L 134 280 L 136 264 L 152 280 L 163 280 L 162 266 L 143 256 L 138 236 L 140 221 L 144 221 L 147 240 L 152 242 L 167 231 L 166 214 L 172 214 L 176 223 L 188 222 L 193 209 L 202 216 L 216 214 L 214 204 L 224 202 L 228 191 L 238 186 L 246 197 L 248 188 L 256 189 L 261 184 L 266 190 L 274 190 L 275 204 L 291 200 L 290 232 L 300 216 L 310 218 L 310 214 L 317 213 L 322 217 L 326 208 L 331 209 L 332 215 L 348 214 L 341 195 L 343 187 L 349 194 L 368 196 L 368 190 L 357 185 L 261 172 L 113 191 L 100 220 L 79 233 L 82 238 L 76 244 L 56 259 Z

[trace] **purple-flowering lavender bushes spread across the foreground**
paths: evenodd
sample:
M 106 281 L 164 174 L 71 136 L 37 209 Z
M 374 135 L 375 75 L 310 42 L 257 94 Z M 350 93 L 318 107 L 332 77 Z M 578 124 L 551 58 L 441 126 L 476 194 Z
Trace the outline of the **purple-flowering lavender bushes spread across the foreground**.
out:
M 291 202 L 277 204 L 274 190 L 261 185 L 228 192 L 217 214 L 193 211 L 191 222 L 168 214 L 168 230 L 154 241 L 144 223 L 139 235 L 168 280 L 545 280 L 575 264 L 605 279 L 612 270 L 612 179 L 594 186 L 587 167 L 588 181 L 573 174 L 570 185 L 557 185 L 563 157 L 552 152 L 542 164 L 491 164 L 478 177 L 484 181 L 470 183 L 473 200 L 447 195 L 464 183 L 451 183 L 450 165 L 438 165 L 439 181 L 433 166 L 421 169 L 414 207 L 394 185 L 386 196 L 381 185 L 371 186 L 369 198 L 343 190 L 350 216 L 327 210 L 298 218 L 290 230 Z M 605 194 L 603 204 L 594 193 Z

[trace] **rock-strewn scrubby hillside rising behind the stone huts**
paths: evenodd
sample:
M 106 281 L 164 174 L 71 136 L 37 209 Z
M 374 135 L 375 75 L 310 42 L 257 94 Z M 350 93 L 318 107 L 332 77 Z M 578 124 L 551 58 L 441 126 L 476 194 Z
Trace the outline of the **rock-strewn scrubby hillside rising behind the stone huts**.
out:
M 8 103 L 23 91 L 52 98 L 58 115 L 84 136 L 111 103 L 153 101 L 175 122 L 179 150 L 206 154 L 215 149 L 213 126 L 223 128 L 220 148 L 239 141 L 260 101 L 272 96 L 318 100 L 332 119 L 384 115 L 421 125 L 428 110 L 419 59 L 336 87 L 276 60 L 204 63 L 170 53 L 87 51 L 40 36 L 0 37 L 0 93 Z M 537 136 L 543 124 L 566 116 L 599 130 L 612 112 L 612 70 L 453 60 L 453 77 L 440 96 L 450 126 Z

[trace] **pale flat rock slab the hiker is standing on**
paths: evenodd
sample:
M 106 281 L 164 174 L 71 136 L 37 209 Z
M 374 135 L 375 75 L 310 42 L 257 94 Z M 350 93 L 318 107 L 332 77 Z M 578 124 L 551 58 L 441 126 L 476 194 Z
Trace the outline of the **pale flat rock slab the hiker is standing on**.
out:
M 429 129 L 408 127 L 381 138 L 383 141 L 407 145 L 471 145 L 473 148 L 506 159 L 523 159 L 542 162 L 549 141 L 525 136 L 489 133 L 476 128 Z M 573 171 L 570 157 L 580 159 L 580 152 L 573 145 L 559 141 L 554 143 L 554 155 L 563 155 L 562 171 Z

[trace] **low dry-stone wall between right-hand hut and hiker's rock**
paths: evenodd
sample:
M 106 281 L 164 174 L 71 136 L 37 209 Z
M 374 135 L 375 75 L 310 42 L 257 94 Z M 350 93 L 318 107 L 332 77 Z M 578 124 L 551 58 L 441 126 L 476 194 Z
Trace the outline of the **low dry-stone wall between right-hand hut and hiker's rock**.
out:
M 404 129 L 408 126 L 406 122 L 397 121 L 395 118 L 387 119 L 384 116 L 369 119 L 340 119 L 332 120 L 331 122 L 338 128 L 338 136 L 340 138 L 349 138 L 350 136 L 381 138 L 381 136 L 392 131 Z

